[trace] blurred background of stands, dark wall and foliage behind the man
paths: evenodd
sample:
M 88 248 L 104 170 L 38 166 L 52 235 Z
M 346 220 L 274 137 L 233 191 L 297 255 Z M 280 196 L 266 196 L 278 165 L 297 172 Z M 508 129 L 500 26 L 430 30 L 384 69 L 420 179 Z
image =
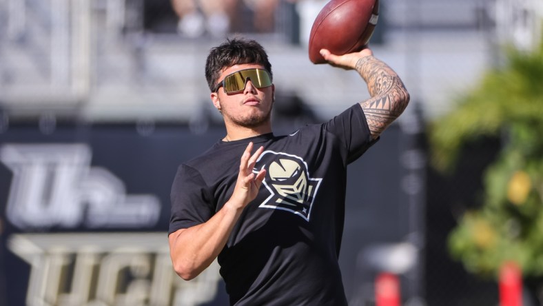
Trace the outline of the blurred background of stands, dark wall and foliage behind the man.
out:
M 176 167 L 225 133 L 205 57 L 257 39 L 274 132 L 330 119 L 369 94 L 309 61 L 326 3 L 0 0 L 0 305 L 225 305 L 217 265 L 182 281 L 167 247 Z M 411 104 L 349 170 L 349 305 L 383 273 L 401 305 L 500 305 L 504 263 L 543 305 L 543 2 L 379 5 Z

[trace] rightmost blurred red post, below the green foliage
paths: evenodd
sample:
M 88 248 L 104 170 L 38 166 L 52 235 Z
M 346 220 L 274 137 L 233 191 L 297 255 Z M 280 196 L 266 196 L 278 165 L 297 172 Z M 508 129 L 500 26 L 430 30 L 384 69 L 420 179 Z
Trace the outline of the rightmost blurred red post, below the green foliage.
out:
M 516 263 L 500 269 L 500 306 L 522 306 L 522 274 Z

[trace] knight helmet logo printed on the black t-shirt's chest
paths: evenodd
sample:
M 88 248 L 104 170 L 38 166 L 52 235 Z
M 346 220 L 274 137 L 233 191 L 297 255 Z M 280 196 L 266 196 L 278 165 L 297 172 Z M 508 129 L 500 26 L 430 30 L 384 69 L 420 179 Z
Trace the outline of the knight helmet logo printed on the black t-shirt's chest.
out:
M 311 178 L 307 163 L 296 155 L 265 151 L 254 172 L 266 170 L 264 185 L 270 195 L 258 207 L 291 212 L 309 222 L 311 208 L 322 179 Z

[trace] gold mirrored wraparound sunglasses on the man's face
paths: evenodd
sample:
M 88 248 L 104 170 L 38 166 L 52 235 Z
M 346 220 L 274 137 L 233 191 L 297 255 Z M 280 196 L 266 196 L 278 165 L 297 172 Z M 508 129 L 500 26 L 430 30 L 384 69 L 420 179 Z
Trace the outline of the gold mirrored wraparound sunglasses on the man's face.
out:
M 218 92 L 218 89 L 221 87 L 224 88 L 225 93 L 227 94 L 243 92 L 247 80 L 251 80 L 251 83 L 253 83 L 256 88 L 265 88 L 272 85 L 272 79 L 269 77 L 269 73 L 266 70 L 249 68 L 228 74 L 221 83 L 218 83 L 215 86 L 213 92 Z

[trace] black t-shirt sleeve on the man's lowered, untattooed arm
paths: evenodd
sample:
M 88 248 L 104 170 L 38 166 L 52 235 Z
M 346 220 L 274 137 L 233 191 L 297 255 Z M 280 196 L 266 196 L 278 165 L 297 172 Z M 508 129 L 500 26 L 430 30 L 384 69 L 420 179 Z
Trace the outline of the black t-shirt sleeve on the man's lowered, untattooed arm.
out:
M 215 214 L 212 198 L 197 170 L 187 165 L 179 166 L 170 193 L 172 207 L 168 234 L 208 221 Z

